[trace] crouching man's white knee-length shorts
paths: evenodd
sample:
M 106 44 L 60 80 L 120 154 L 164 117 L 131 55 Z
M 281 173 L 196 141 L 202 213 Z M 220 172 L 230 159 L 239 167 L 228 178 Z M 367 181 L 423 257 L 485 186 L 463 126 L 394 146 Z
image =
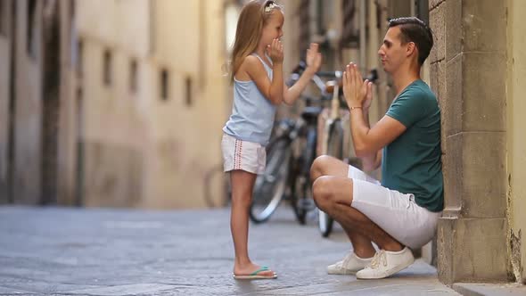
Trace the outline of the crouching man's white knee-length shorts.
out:
M 414 194 L 383 187 L 373 177 L 352 166 L 349 166 L 348 177 L 353 181 L 351 207 L 411 249 L 418 249 L 431 241 L 441 212 L 420 207 Z

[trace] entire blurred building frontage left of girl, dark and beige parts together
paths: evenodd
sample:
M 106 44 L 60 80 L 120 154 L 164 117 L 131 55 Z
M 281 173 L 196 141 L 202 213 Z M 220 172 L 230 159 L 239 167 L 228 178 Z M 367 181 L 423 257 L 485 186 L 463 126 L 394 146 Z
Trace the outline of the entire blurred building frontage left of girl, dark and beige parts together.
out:
M 0 2 L 0 202 L 223 201 L 228 3 Z

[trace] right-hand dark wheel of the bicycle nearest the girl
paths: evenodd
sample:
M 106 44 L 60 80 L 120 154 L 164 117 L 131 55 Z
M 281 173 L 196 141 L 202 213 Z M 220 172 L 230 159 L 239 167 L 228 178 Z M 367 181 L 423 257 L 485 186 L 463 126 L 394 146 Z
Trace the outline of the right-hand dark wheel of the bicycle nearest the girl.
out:
M 300 159 L 296 163 L 295 177 L 292 180 L 291 203 L 296 219 L 301 225 L 306 223 L 307 213 L 316 209 L 312 197 L 312 182 L 310 181 L 310 166 L 315 158 L 316 129 L 309 128 L 307 141 L 303 147 Z

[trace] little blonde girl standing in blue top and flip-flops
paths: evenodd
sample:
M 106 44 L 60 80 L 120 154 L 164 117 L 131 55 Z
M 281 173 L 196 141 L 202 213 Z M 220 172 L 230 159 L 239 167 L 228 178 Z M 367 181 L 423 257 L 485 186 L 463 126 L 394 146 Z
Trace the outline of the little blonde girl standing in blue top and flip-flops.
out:
M 237 22 L 232 52 L 234 83 L 232 115 L 223 127 L 221 148 L 224 169 L 230 172 L 232 211 L 230 229 L 234 240 L 234 278 L 276 278 L 268 267 L 252 263 L 248 254 L 249 208 L 257 174 L 265 170 L 265 146 L 274 124 L 275 108 L 292 104 L 321 65 L 318 45 L 307 51 L 307 69 L 292 86 L 284 86 L 284 13 L 275 1 L 252 0 L 245 4 Z

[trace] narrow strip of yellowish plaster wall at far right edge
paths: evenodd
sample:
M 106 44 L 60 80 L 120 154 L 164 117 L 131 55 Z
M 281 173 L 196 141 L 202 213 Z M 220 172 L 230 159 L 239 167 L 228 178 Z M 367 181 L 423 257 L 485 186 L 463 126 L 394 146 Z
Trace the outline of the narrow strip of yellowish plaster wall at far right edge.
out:
M 517 282 L 526 283 L 526 25 L 522 13 L 526 11 L 526 2 L 509 0 L 508 2 L 508 41 L 507 41 L 507 167 L 508 167 L 508 224 L 510 257 L 513 276 Z

